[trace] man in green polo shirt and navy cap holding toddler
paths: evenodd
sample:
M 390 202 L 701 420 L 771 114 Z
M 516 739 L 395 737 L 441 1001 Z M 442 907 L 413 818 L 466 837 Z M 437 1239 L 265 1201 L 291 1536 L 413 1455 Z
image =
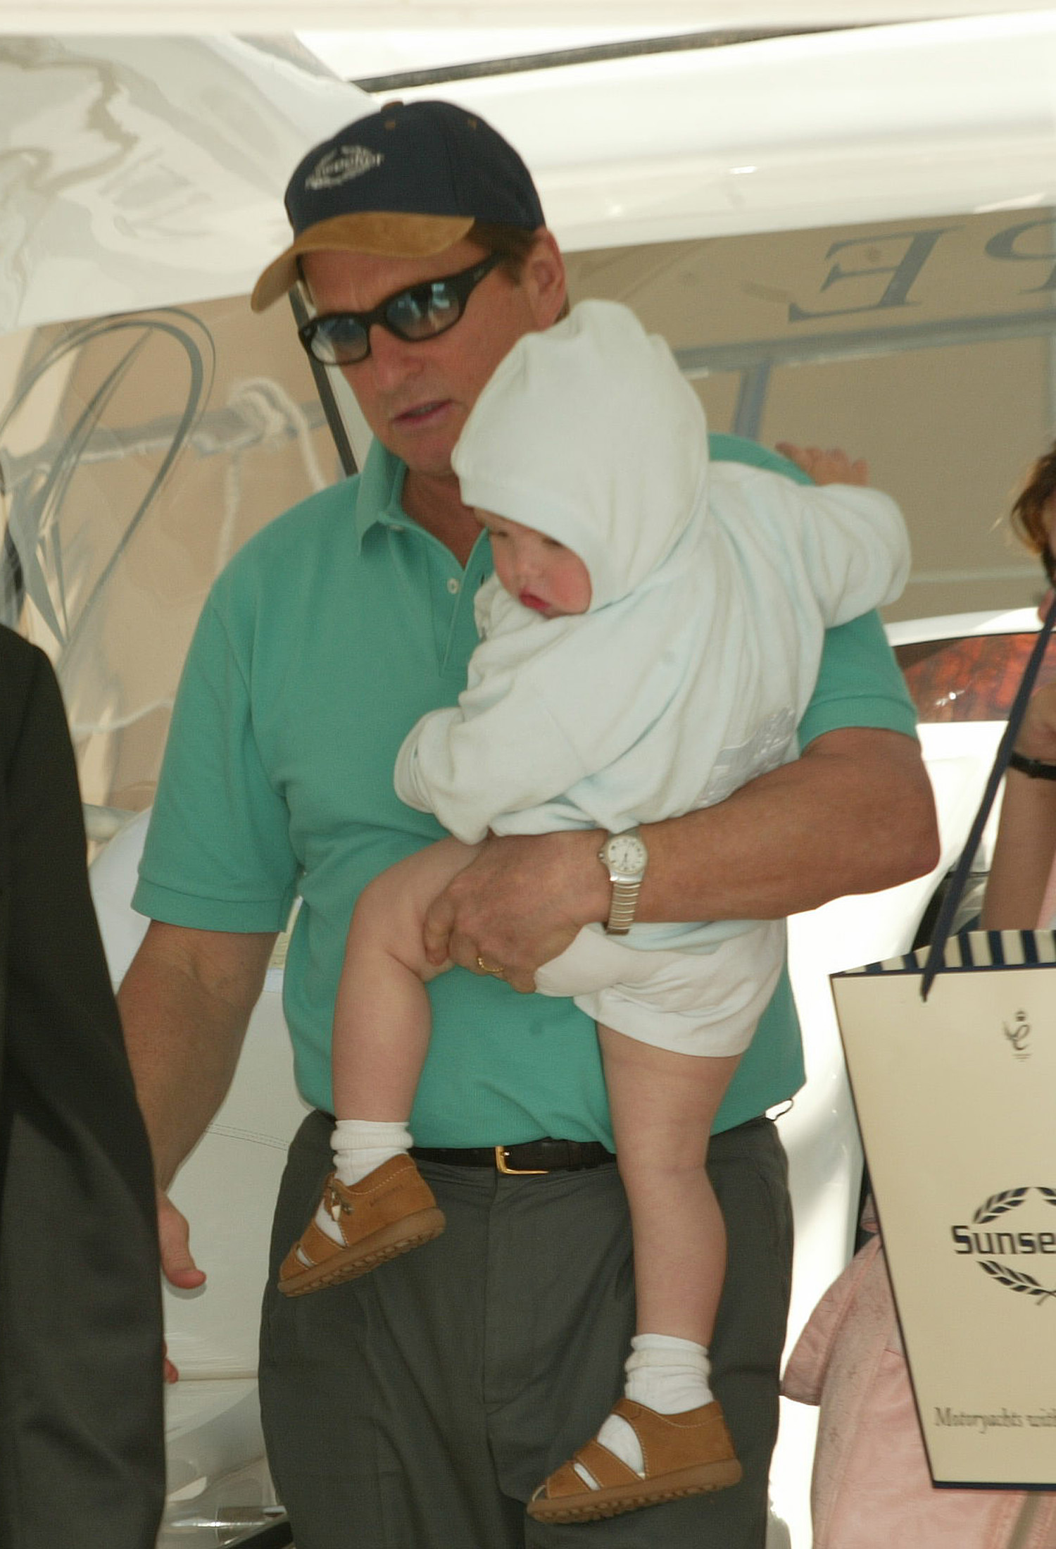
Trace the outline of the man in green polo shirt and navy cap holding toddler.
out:
M 153 923 L 122 988 L 164 1187 L 226 1090 L 300 895 L 285 1004 L 317 1112 L 291 1148 L 277 1256 L 330 1166 L 330 1024 L 355 898 L 441 832 L 396 799 L 392 770 L 409 726 L 463 686 L 489 572 L 451 449 L 499 359 L 548 327 L 565 294 L 523 163 L 447 104 L 348 125 L 305 158 L 286 208 L 294 243 L 254 305 L 302 274 L 317 313 L 302 339 L 344 370 L 376 440 L 356 480 L 265 528 L 211 593 L 136 892 Z M 712 455 L 766 459 L 723 438 Z M 912 726 L 878 621 L 833 630 L 802 757 L 641 830 L 638 919 L 774 919 L 927 869 L 934 813 Z M 434 905 L 427 945 L 457 967 L 430 985 L 412 1129 L 447 1230 L 364 1279 L 265 1304 L 265 1430 L 299 1549 L 548 1549 L 576 1534 L 604 1549 L 763 1543 L 791 1255 L 783 1156 L 763 1114 L 802 1081 L 787 979 L 709 1162 L 729 1235 L 714 1388 L 745 1479 L 590 1527 L 523 1512 L 609 1413 L 633 1327 L 593 1025 L 571 1002 L 517 993 L 607 919 L 604 840 L 492 840 Z M 164 1197 L 159 1222 L 169 1278 L 200 1284 Z

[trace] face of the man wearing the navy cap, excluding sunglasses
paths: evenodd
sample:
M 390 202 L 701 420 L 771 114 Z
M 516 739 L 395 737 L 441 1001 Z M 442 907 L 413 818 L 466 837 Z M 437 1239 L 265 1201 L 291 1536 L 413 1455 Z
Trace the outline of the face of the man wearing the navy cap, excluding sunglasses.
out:
M 457 274 L 483 257 L 483 248 L 463 240 L 429 259 L 310 252 L 303 271 L 317 311 L 369 311 L 409 285 Z M 543 234 L 520 280 L 492 270 L 446 333 L 407 344 L 375 325 L 367 359 L 341 370 L 390 452 L 413 472 L 449 474 L 454 445 L 495 366 L 523 333 L 550 327 L 562 301 L 561 256 Z

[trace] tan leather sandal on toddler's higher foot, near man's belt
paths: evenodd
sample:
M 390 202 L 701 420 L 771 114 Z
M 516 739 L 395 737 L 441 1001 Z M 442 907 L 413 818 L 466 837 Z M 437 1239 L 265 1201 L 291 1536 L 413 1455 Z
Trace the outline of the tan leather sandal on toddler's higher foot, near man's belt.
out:
M 356 1279 L 386 1259 L 430 1242 L 444 1228 L 443 1211 L 409 1156 L 390 1157 L 359 1183 L 342 1183 L 331 1173 L 322 1202 L 338 1222 L 341 1242 L 327 1236 L 313 1218 L 282 1261 L 279 1290 L 286 1297 Z

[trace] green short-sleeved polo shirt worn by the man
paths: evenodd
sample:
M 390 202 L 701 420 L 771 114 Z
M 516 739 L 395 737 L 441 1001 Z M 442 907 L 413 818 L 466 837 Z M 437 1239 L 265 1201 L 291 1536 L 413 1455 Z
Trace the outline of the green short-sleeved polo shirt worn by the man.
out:
M 751 441 L 714 457 L 799 469 Z M 307 1101 L 331 1109 L 330 1029 L 353 903 L 382 867 L 441 836 L 395 795 L 413 722 L 451 705 L 477 643 L 486 539 L 465 568 L 404 513 L 404 466 L 378 443 L 361 476 L 263 528 L 217 579 L 184 666 L 135 908 L 170 925 L 279 931 L 302 898 L 285 1011 Z M 801 744 L 839 726 L 914 733 L 875 615 L 830 630 Z M 612 1145 L 593 1022 L 454 968 L 429 985 L 434 1036 L 412 1114 L 420 1145 L 537 1135 Z M 745 1053 L 717 1128 L 802 1084 L 788 979 Z

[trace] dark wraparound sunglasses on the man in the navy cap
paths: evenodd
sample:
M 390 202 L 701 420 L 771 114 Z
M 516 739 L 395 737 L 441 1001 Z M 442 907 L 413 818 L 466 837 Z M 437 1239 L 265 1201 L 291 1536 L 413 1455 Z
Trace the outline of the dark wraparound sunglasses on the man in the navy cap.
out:
M 460 274 L 409 285 L 387 296 L 372 311 L 328 311 L 297 328 L 300 342 L 324 366 L 355 366 L 370 355 L 370 330 L 378 324 L 406 344 L 420 344 L 446 333 L 461 318 L 466 301 L 500 262 L 492 252 Z

